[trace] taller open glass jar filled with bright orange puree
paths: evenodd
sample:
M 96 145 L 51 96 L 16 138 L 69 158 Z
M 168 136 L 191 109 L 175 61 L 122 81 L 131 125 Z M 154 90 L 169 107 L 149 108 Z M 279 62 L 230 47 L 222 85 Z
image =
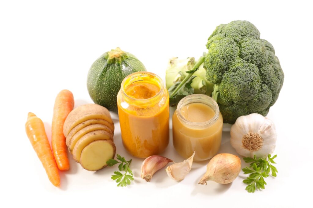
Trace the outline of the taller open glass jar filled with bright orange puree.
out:
M 160 154 L 169 143 L 169 95 L 151 72 L 128 75 L 117 95 L 123 145 L 135 157 Z

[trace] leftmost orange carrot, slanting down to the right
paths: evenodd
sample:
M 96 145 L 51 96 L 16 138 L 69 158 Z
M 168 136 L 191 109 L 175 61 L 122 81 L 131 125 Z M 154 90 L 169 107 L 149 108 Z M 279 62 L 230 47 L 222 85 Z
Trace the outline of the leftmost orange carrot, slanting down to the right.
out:
M 44 130 L 44 123 L 35 114 L 28 113 L 25 130 L 30 143 L 47 172 L 49 180 L 54 186 L 59 187 L 59 171 Z

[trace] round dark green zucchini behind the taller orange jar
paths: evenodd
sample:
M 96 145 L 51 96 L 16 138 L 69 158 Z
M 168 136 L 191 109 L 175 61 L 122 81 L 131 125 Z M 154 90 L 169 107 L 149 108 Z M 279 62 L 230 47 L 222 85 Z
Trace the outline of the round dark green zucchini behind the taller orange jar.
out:
M 134 72 L 146 71 L 145 66 L 131 53 L 119 47 L 100 56 L 91 65 L 87 89 L 91 99 L 117 113 L 116 97 L 123 79 Z

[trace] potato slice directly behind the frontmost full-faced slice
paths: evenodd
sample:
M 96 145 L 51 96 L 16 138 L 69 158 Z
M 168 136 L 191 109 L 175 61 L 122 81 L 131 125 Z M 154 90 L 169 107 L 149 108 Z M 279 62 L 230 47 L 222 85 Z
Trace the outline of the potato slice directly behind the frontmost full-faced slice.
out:
M 112 140 L 113 137 L 110 133 L 104 131 L 104 130 L 96 130 L 89 133 L 86 133 L 82 138 L 80 138 L 73 149 L 73 158 L 76 162 L 80 162 L 80 155 L 82 150 L 91 142 L 96 140 Z

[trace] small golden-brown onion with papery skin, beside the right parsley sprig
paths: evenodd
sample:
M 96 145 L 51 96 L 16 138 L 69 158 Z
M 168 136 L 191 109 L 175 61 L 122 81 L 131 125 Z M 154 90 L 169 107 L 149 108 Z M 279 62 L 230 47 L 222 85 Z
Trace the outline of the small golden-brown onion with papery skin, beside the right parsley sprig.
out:
M 207 172 L 198 184 L 207 185 L 206 181 L 220 184 L 233 182 L 241 170 L 241 161 L 237 155 L 222 153 L 215 155 L 207 165 Z

